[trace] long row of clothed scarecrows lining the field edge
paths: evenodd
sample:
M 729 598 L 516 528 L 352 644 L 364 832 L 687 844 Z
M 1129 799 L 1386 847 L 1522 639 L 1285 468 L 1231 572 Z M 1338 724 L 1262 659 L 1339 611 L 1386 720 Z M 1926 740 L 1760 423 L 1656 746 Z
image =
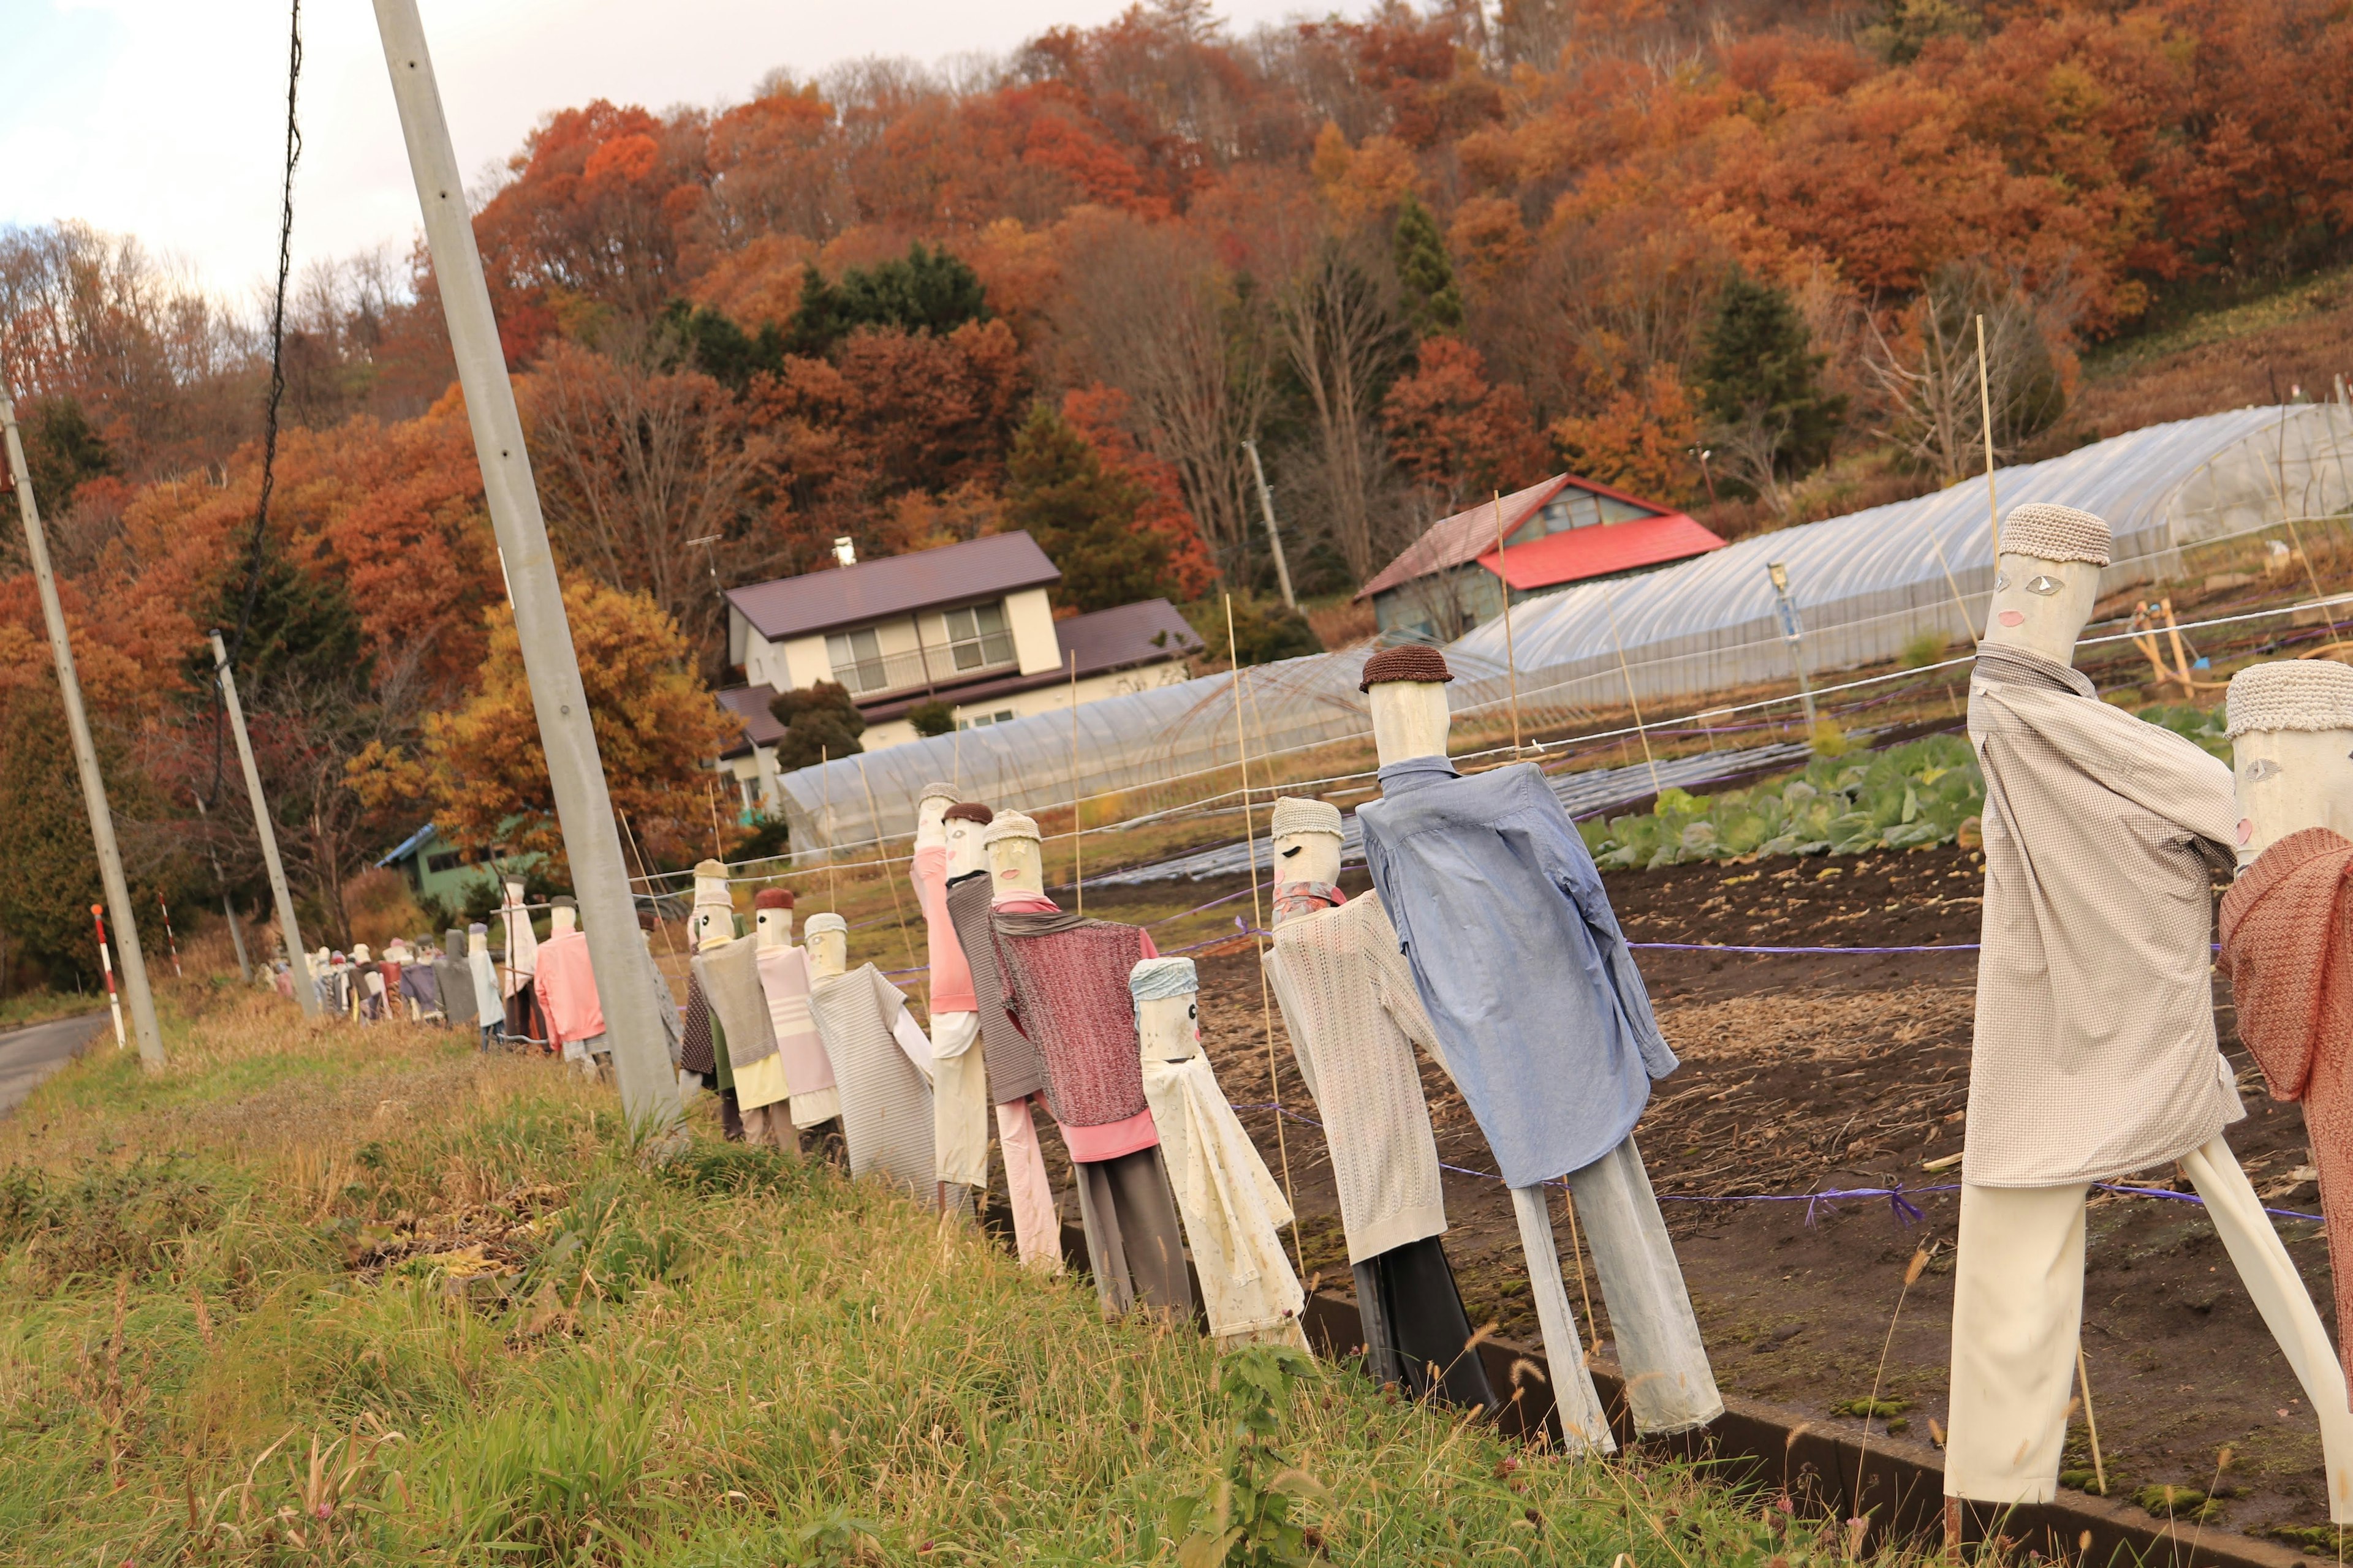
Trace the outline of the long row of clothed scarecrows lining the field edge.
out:
M 2002 520 L 1991 625 L 1969 682 L 1986 776 L 1977 990 L 1953 1305 L 1946 1493 L 2047 1502 L 2057 1490 L 2082 1319 L 2094 1182 L 2179 1164 L 2320 1420 L 2329 1516 L 2353 1521 L 2353 1410 L 2327 1328 L 2231 1154 L 2245 1117 L 2214 1034 L 2212 882 L 2240 1034 L 2271 1091 L 2304 1100 L 2322 1211 L 2353 1222 L 2353 670 L 2280 661 L 2231 682 L 2226 766 L 2099 701 L 2073 670 L 2108 564 L 2108 524 L 2059 505 Z M 1341 813 L 1280 799 L 1266 973 L 1329 1143 L 1367 1354 L 1417 1396 L 1494 1406 L 1440 1237 L 1438 1150 L 1417 1046 L 1461 1091 L 1511 1187 L 1572 1450 L 1609 1425 L 1553 1251 L 1565 1185 L 1595 1255 L 1633 1425 L 1722 1413 L 1659 1204 L 1633 1140 L 1675 1056 L 1602 879 L 1532 764 L 1473 778 L 1447 762 L 1435 649 L 1365 663 L 1381 799 L 1358 816 L 1374 891 L 1339 889 Z M 873 964 L 847 969 L 838 914 L 793 943 L 793 898 L 765 891 L 736 936 L 725 867 L 696 867 L 685 1079 L 720 1095 L 729 1135 L 840 1140 L 941 1211 L 988 1185 L 991 1121 L 1024 1262 L 1061 1267 L 1035 1112 L 1073 1161 L 1104 1307 L 1191 1314 L 1186 1255 L 1221 1347 L 1301 1342 L 1304 1293 L 1278 1232 L 1282 1190 L 1200 1051 L 1191 959 L 1136 926 L 1045 896 L 1038 827 L 932 785 L 913 882 L 929 940 L 929 1030 Z M 520 912 L 520 889 L 511 889 Z M 544 1039 L 593 1063 L 602 1023 L 586 945 L 558 910 L 536 952 Z M 485 1027 L 515 1016 L 482 926 L 449 933 Z M 551 971 L 551 954 L 579 947 Z M 515 943 L 529 924 L 508 919 Z M 407 969 L 384 980 L 407 987 Z M 381 969 L 379 969 L 381 978 Z M 442 978 L 442 997 L 452 978 Z M 572 994 L 572 1001 L 565 997 Z M 525 1009 L 532 1006 L 527 997 Z M 454 1016 L 454 1013 L 452 1013 Z M 2339 1328 L 2353 1281 L 2337 1276 Z M 1567 1375 L 1565 1375 L 1567 1373 Z

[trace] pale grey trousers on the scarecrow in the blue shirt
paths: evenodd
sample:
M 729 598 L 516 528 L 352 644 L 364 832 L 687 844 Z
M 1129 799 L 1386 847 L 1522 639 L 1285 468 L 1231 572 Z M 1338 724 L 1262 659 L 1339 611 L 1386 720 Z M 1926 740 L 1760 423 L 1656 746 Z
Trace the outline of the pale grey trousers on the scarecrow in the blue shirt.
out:
M 1609 1305 L 1635 1432 L 1654 1436 L 1708 1425 L 1725 1413 L 1725 1401 L 1715 1392 L 1708 1349 L 1699 1342 L 1699 1319 L 1692 1316 L 1692 1295 L 1682 1286 L 1682 1267 L 1675 1262 L 1675 1246 L 1666 1237 L 1666 1220 L 1659 1215 L 1659 1199 L 1649 1190 L 1649 1173 L 1642 1168 L 1640 1150 L 1633 1147 L 1633 1135 L 1562 1180 L 1577 1204 L 1577 1225 L 1586 1251 L 1593 1253 L 1602 1300 Z M 1513 1187 L 1511 1206 L 1520 1220 L 1520 1246 L 1527 1253 L 1537 1324 L 1544 1328 L 1544 1359 L 1553 1368 L 1553 1403 L 1560 1408 L 1562 1439 L 1569 1453 L 1609 1453 L 1617 1441 L 1609 1436 L 1609 1418 L 1593 1389 L 1577 1314 L 1560 1281 L 1546 1187 Z

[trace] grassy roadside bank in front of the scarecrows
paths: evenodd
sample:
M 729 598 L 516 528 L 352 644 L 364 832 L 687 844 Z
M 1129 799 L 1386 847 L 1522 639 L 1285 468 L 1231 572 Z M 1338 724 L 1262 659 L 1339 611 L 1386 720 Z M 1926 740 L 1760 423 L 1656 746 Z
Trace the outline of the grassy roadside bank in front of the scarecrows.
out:
M 1191 1331 L 704 1124 L 654 1161 L 544 1063 L 242 994 L 172 1034 L 0 1124 L 7 1561 L 1174 1563 L 1271 1455 L 1297 1561 L 1835 1559 L 1334 1366 L 1259 1368 L 1235 1450 Z

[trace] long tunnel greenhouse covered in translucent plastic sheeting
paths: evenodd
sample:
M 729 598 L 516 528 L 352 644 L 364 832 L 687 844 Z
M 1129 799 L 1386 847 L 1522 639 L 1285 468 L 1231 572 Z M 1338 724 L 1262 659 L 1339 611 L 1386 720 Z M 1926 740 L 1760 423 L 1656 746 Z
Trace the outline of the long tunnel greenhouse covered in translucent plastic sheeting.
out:
M 2007 512 L 2059 501 L 2115 529 L 2101 588 L 2169 576 L 2181 545 L 2245 534 L 2282 517 L 2332 517 L 2353 501 L 2353 411 L 2339 404 L 2235 409 L 2151 425 L 2045 463 L 1995 473 Z M 1941 555 L 1939 555 L 1941 552 Z M 1922 632 L 1965 642 L 1986 611 L 1993 541 L 1986 482 L 1878 505 L 1828 522 L 1744 538 L 1635 578 L 1588 583 L 1513 609 L 1447 649 L 1457 712 L 1511 701 L 1529 710 L 1624 708 L 1741 686 L 1793 686 L 1765 567 L 1788 569 L 1802 618 L 1795 656 L 1809 672 L 1885 663 Z M 1955 595 L 1960 602 L 1955 602 Z M 1967 607 L 1969 623 L 1965 623 Z M 1372 731 L 1355 684 L 1369 649 L 1242 670 L 1249 755 L 1285 752 Z M 1668 717 L 1645 710 L 1647 717 Z M 798 769 L 779 783 L 795 860 L 802 851 L 873 844 L 913 832 L 915 797 L 932 780 L 967 799 L 1045 811 L 1167 783 L 1235 762 L 1233 675 L 1113 696 L 1071 715 L 965 729 L 864 757 Z M 1202 795 L 1231 776 L 1202 778 Z

